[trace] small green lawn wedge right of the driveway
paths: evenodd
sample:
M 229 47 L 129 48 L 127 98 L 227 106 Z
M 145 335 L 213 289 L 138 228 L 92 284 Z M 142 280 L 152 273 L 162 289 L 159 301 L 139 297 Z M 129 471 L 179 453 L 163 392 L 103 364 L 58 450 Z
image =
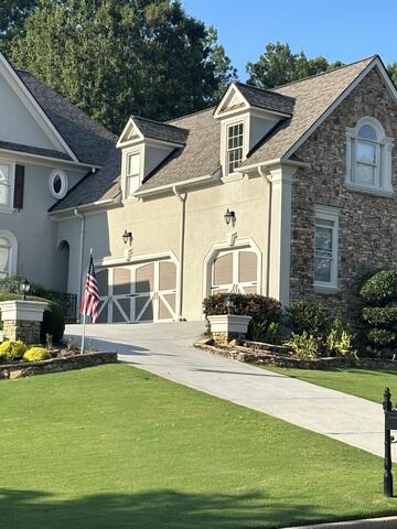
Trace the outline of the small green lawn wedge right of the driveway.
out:
M 379 403 L 383 401 L 385 388 L 388 387 L 391 391 L 393 402 L 397 401 L 397 371 L 373 371 L 369 369 L 351 368 L 330 370 L 296 369 L 268 366 L 266 366 L 266 369 Z

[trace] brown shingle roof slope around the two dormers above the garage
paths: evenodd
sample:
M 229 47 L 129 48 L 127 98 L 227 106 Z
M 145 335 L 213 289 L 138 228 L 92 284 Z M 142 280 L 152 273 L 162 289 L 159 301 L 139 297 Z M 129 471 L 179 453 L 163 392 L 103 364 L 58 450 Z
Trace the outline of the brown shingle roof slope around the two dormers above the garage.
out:
M 270 91 L 259 90 L 265 93 L 266 98 L 269 94 L 273 94 L 276 98 L 278 95 L 287 96 L 282 100 L 288 101 L 287 105 L 293 101 L 293 115 L 282 119 L 266 134 L 251 150 L 243 166 L 285 156 L 373 60 L 374 57 L 369 57 Z M 259 94 L 256 97 L 259 97 Z M 185 147 L 175 149 L 146 177 L 139 191 L 178 184 L 198 176 L 213 175 L 218 171 L 221 126 L 214 119 L 213 111 L 213 108 L 203 110 L 167 123 L 189 131 Z M 114 148 L 104 169 L 86 176 L 53 210 L 117 197 L 120 194 L 120 168 L 121 155 L 119 149 Z

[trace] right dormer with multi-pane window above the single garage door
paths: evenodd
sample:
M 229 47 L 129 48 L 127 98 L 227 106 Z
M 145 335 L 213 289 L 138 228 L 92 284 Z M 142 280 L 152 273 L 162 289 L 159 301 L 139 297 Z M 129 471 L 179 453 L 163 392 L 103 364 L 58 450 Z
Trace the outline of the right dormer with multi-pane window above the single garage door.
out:
M 291 118 L 294 99 L 243 83 L 226 90 L 214 118 L 221 123 L 223 176 L 234 174 L 258 142 L 281 120 Z

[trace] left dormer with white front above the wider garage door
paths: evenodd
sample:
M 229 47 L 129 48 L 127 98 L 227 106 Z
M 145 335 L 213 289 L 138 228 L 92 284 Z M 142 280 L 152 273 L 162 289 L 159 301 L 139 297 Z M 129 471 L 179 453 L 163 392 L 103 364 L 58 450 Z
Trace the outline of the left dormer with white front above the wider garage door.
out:
M 132 198 L 143 180 L 175 150 L 183 149 L 187 130 L 161 121 L 131 116 L 117 148 L 121 149 L 124 199 Z

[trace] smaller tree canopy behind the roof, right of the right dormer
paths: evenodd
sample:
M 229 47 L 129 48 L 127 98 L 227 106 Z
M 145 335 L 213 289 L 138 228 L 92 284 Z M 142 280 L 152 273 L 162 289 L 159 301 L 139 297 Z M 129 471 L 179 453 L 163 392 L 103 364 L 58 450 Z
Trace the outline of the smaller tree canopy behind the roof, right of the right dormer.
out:
M 292 53 L 288 44 L 280 42 L 269 43 L 266 51 L 256 63 L 247 64 L 249 75 L 248 84 L 260 88 L 273 88 L 275 86 L 292 83 L 311 75 L 326 72 L 328 69 L 342 66 L 337 61 L 329 63 L 325 57 L 308 58 L 303 52 Z

